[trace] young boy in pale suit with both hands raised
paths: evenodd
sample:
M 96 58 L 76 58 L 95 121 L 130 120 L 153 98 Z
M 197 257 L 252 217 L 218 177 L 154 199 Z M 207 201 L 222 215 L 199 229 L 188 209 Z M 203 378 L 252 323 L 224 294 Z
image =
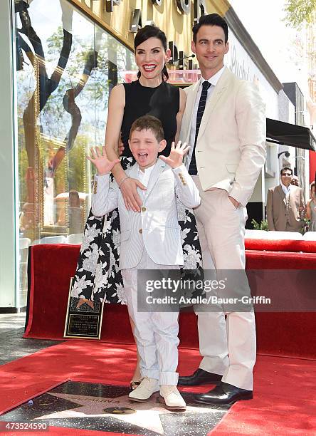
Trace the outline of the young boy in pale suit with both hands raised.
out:
M 126 171 L 119 185 L 110 182 L 110 171 L 119 160 L 110 162 L 105 147 L 103 154 L 92 150 L 90 162 L 95 165 L 92 211 L 103 216 L 118 207 L 120 214 L 120 270 L 127 296 L 128 311 L 135 323 L 142 383 L 129 397 L 146 401 L 159 390 L 160 401 L 170 410 L 185 410 L 186 404 L 177 390 L 178 313 L 137 311 L 137 270 L 179 269 L 184 264 L 181 233 L 177 217 L 177 198 L 189 208 L 199 206 L 199 190 L 182 164 L 189 150 L 186 144 L 172 144 L 169 157 L 158 152 L 166 147 L 162 123 L 145 115 L 130 129 L 130 150 L 136 163 Z M 127 210 L 120 185 L 127 177 L 139 179 L 147 190 L 139 190 L 143 198 L 141 212 Z M 138 292 L 145 293 L 144 289 Z

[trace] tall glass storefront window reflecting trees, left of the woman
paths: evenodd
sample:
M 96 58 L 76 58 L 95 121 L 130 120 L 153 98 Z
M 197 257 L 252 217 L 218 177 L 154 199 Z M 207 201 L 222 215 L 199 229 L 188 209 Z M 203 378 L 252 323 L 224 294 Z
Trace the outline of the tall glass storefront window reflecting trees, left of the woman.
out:
M 15 0 L 20 296 L 28 246 L 80 243 L 111 88 L 134 56 L 66 0 Z

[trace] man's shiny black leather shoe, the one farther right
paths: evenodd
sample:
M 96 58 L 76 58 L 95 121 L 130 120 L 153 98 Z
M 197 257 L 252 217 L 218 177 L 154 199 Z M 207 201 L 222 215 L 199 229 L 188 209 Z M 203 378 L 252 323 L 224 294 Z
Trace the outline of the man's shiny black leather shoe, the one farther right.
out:
M 238 400 L 251 400 L 251 398 L 253 398 L 252 390 L 237 388 L 224 382 L 209 392 L 194 395 L 196 403 L 211 405 L 231 405 Z

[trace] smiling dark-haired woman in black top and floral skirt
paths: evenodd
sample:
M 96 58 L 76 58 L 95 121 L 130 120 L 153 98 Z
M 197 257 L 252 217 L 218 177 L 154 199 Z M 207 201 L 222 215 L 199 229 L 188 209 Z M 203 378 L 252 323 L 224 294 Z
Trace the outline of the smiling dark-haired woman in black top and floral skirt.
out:
M 169 55 L 164 32 L 155 26 L 144 26 L 135 37 L 139 79 L 115 86 L 110 95 L 105 133 L 107 157 L 110 160 L 117 159 L 118 146 L 122 141 L 124 149 L 121 147 L 121 162 L 115 165 L 112 175 L 120 185 L 127 209 L 136 213 L 140 212 L 142 206 L 137 187 L 143 189 L 144 186 L 139 180 L 126 178 L 125 174 L 127 167 L 135 163 L 128 145 L 132 123 L 146 114 L 162 121 L 167 140 L 163 155 L 169 156 L 172 141 L 177 143 L 179 139 L 186 94 L 181 88 L 167 83 L 165 64 Z M 184 269 L 196 271 L 201 267 L 201 249 L 194 214 L 179 204 L 178 216 L 184 248 Z M 102 219 L 90 213 L 75 274 L 73 296 L 107 303 L 125 303 L 122 277 L 118 270 L 119 247 L 120 220 L 117 211 Z M 133 380 L 138 378 L 136 369 Z

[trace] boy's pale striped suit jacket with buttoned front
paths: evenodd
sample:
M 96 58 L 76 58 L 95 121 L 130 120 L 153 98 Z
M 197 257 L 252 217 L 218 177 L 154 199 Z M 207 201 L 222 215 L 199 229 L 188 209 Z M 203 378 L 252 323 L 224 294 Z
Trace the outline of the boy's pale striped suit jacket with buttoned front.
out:
M 137 179 L 137 164 L 126 170 Z M 96 176 L 92 211 L 101 217 L 118 207 L 120 214 L 120 269 L 134 268 L 147 254 L 161 265 L 183 265 L 181 231 L 178 223 L 177 197 L 188 208 L 200 204 L 199 190 L 184 165 L 172 170 L 157 160 L 146 191 L 137 188 L 143 199 L 141 212 L 127 210 L 117 183 L 109 175 Z

